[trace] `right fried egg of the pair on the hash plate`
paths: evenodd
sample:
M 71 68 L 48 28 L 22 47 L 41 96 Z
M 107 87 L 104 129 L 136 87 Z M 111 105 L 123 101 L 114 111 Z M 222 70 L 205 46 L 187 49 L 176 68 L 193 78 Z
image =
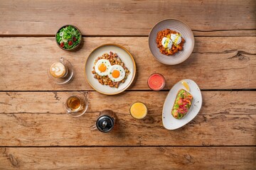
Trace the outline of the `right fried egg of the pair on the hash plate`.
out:
M 118 64 L 112 65 L 108 77 L 114 82 L 122 81 L 125 77 L 124 68 Z

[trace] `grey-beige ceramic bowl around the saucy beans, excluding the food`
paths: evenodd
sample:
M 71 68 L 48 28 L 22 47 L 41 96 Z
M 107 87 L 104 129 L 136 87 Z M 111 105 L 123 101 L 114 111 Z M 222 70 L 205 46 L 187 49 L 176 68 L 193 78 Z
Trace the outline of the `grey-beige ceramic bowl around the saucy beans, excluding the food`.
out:
M 170 30 L 176 30 L 178 33 L 181 33 L 181 36 L 185 39 L 183 45 L 183 50 L 177 52 L 175 55 L 163 55 L 159 51 L 159 48 L 156 45 L 156 35 L 160 30 L 169 28 Z M 194 37 L 191 28 L 189 28 L 185 23 L 178 21 L 176 19 L 166 19 L 160 21 L 159 23 L 152 28 L 149 33 L 149 49 L 154 55 L 156 60 L 161 63 L 174 65 L 179 64 L 185 61 L 192 53 L 194 47 Z

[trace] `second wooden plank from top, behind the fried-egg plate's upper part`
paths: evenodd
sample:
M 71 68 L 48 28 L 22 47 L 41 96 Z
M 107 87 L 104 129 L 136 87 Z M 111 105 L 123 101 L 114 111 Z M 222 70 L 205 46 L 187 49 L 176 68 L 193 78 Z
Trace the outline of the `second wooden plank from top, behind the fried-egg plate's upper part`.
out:
M 191 57 L 174 66 L 157 62 L 147 40 L 84 38 L 81 50 L 66 52 L 54 38 L 0 38 L 0 90 L 92 90 L 85 79 L 85 60 L 95 47 L 111 42 L 126 47 L 136 61 L 137 76 L 128 90 L 148 90 L 146 82 L 154 72 L 166 78 L 164 89 L 171 89 L 181 79 L 193 79 L 201 89 L 256 89 L 255 37 L 196 38 Z M 75 71 L 75 79 L 63 86 L 47 75 L 49 65 L 60 57 L 70 60 Z

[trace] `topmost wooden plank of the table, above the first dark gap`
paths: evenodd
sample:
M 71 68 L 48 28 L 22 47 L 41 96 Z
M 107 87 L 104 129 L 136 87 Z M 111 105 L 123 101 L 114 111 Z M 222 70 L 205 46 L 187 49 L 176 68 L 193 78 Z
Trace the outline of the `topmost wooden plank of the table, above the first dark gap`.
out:
M 154 24 L 178 18 L 195 35 L 256 34 L 254 0 L 1 1 L 1 35 L 55 35 L 65 24 L 83 35 L 149 35 Z

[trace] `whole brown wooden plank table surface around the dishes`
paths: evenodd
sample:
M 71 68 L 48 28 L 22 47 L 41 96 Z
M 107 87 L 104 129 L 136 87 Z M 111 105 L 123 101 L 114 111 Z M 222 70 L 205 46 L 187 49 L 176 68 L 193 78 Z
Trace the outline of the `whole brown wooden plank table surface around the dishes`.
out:
M 8 1 L 0 3 L 0 169 L 255 169 L 256 1 Z M 191 57 L 169 66 L 149 51 L 157 22 L 178 18 L 195 35 Z M 84 45 L 61 50 L 55 33 L 80 28 Z M 85 60 L 97 46 L 117 43 L 137 63 L 127 91 L 105 96 L 85 79 Z M 51 62 L 65 57 L 75 79 L 63 86 L 47 76 Z M 145 62 L 146 61 L 146 62 Z M 166 78 L 151 91 L 150 74 Z M 191 123 L 166 130 L 161 111 L 181 79 L 200 86 L 203 106 Z M 72 118 L 62 107 L 70 91 L 89 91 L 88 112 Z M 129 107 L 142 101 L 144 120 Z M 90 130 L 99 112 L 112 109 L 110 133 Z

